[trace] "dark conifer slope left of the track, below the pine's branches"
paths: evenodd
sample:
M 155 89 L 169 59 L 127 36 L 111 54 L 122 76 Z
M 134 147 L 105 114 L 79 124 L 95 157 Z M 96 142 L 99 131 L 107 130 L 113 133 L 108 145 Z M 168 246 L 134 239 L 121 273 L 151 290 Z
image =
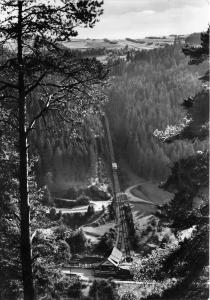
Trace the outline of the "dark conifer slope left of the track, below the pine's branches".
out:
M 32 135 L 33 152 L 38 157 L 37 180 L 52 192 L 68 189 L 72 185 L 87 183 L 96 160 L 94 134 L 100 124 L 97 118 L 87 117 L 77 130 L 71 126 L 53 124 L 54 130 L 46 131 L 40 122 Z M 94 129 L 94 131 L 93 131 Z M 56 133 L 57 131 L 57 133 Z

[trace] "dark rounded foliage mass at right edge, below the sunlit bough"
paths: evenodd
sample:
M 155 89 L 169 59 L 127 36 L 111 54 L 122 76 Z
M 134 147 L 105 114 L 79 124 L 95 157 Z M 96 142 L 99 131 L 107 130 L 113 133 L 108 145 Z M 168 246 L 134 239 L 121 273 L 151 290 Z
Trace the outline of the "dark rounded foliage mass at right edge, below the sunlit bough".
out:
M 160 207 L 157 215 L 162 220 L 168 220 L 176 230 L 190 228 L 207 218 L 208 200 L 205 189 L 209 182 L 208 161 L 209 154 L 206 151 L 176 162 L 163 185 L 165 189 L 176 193 L 169 204 Z M 194 207 L 195 199 L 200 203 L 198 208 Z

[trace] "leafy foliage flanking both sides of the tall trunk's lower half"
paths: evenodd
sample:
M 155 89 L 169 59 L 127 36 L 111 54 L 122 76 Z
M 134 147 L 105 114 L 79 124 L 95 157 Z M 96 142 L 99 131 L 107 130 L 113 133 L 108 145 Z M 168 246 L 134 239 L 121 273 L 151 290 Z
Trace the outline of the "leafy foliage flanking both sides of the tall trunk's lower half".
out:
M 3 148 L 1 149 L 3 150 Z M 21 263 L 19 256 L 19 212 L 17 200 L 14 198 L 17 189 L 15 174 L 16 168 L 15 165 L 13 165 L 12 168 L 10 167 L 12 163 L 15 163 L 12 156 L 13 154 L 8 148 L 7 159 L 0 160 L 2 171 L 4 170 L 4 166 L 6 167 L 7 172 L 7 176 L 5 176 L 5 173 L 1 173 L 1 175 L 3 175 L 2 180 L 4 178 L 4 180 L 7 181 L 7 186 L 6 190 L 4 190 L 2 181 L 2 210 L 0 226 L 0 270 L 2 277 L 0 281 L 0 295 L 2 299 L 9 300 L 17 299 L 22 290 Z M 71 257 L 70 248 L 62 236 L 59 237 L 57 234 L 52 235 L 52 232 L 48 229 L 58 223 L 51 222 L 48 219 L 47 208 L 41 204 L 43 192 L 37 192 L 35 190 L 35 185 L 32 183 L 33 180 L 34 179 L 30 181 L 30 194 L 33 232 L 33 272 L 36 293 L 39 295 L 47 293 L 52 297 L 57 297 L 56 295 L 67 288 L 65 287 L 65 282 L 66 284 L 68 282 L 67 285 L 70 284 L 70 281 L 67 280 L 67 278 L 65 278 L 61 273 L 62 262 L 68 261 Z M 11 192 L 12 187 L 14 187 L 13 193 Z M 5 198 L 4 201 L 4 195 L 7 196 L 8 191 L 10 192 L 10 197 Z M 63 286 L 63 288 L 61 288 L 61 286 Z

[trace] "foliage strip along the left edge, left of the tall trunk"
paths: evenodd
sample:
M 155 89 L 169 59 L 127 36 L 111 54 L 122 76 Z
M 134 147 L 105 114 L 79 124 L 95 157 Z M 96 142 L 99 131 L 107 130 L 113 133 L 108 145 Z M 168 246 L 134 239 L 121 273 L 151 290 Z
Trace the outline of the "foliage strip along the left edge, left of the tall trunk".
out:
M 21 287 L 17 155 L 4 135 L 0 136 L 0 298 L 16 299 Z

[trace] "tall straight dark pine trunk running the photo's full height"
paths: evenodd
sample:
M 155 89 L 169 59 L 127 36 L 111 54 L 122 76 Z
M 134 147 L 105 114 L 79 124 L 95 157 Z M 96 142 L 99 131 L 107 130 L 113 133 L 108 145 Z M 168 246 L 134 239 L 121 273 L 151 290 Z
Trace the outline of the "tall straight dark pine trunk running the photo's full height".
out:
M 30 207 L 28 199 L 28 145 L 26 134 L 26 99 L 24 86 L 23 51 L 22 51 L 22 5 L 18 0 L 18 88 L 19 88 L 19 197 L 21 216 L 20 254 L 24 300 L 34 299 L 32 259 L 30 242 Z

